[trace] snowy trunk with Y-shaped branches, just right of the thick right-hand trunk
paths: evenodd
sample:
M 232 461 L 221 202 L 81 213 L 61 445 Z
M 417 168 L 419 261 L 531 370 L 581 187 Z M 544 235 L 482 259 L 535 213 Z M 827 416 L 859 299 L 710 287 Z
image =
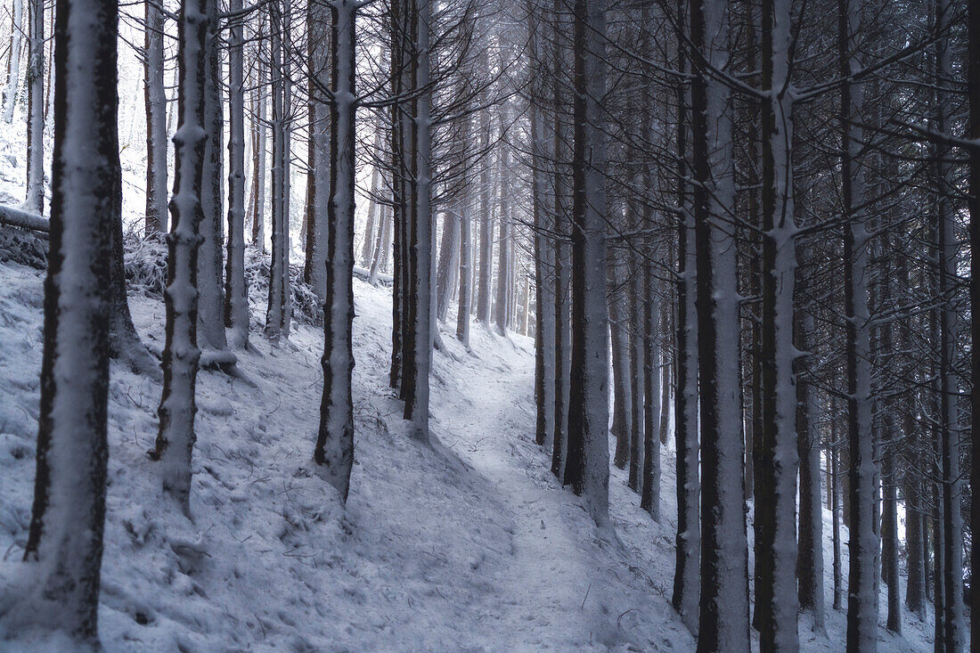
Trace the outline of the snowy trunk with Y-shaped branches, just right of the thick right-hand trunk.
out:
M 756 474 L 756 620 L 763 649 L 799 649 L 796 496 L 799 468 L 793 339 L 796 224 L 790 0 L 762 0 L 762 430 Z

